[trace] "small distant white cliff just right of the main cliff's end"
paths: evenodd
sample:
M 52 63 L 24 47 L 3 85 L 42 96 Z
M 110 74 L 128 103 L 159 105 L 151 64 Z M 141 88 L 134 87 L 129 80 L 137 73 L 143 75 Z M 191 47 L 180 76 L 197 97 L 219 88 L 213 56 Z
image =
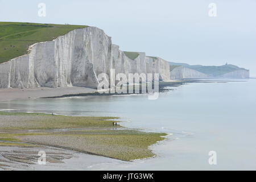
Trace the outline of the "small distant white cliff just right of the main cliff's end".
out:
M 207 78 L 208 75 L 196 71 L 194 69 L 177 67 L 170 72 L 171 79 L 183 79 L 183 78 Z

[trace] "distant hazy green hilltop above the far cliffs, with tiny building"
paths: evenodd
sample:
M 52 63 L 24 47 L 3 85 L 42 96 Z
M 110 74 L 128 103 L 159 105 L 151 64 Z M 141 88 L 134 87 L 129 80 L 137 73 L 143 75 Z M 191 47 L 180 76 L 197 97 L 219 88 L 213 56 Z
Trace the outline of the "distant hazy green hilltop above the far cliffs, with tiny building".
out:
M 189 65 L 186 63 L 174 63 L 174 62 L 169 62 L 169 64 L 170 64 L 170 69 L 171 68 L 174 69 L 175 66 L 176 67 L 183 66 L 185 68 L 195 69 L 196 71 L 205 73 L 209 76 L 219 76 L 219 75 L 223 75 L 225 73 L 229 73 L 237 70 L 247 70 L 245 68 L 240 68 L 232 64 L 226 64 L 221 66 Z

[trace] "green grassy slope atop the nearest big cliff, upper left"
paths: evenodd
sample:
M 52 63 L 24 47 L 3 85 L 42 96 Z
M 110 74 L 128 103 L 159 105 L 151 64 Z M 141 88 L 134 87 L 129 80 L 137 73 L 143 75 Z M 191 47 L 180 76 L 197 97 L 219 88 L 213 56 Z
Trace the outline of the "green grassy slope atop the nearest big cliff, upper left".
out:
M 0 22 L 0 63 L 27 53 L 28 47 L 87 26 Z

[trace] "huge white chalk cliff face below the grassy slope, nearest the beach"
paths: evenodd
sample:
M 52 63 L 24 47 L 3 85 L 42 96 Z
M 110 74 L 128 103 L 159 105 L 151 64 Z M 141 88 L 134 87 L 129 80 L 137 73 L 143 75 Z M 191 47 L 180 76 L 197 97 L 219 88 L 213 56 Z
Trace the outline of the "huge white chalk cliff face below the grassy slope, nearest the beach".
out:
M 100 73 L 159 73 L 170 81 L 167 61 L 147 57 L 131 60 L 104 31 L 96 27 L 73 30 L 51 41 L 30 46 L 28 55 L 0 64 L 0 88 L 88 86 L 97 88 Z M 110 79 L 113 79 L 110 77 Z

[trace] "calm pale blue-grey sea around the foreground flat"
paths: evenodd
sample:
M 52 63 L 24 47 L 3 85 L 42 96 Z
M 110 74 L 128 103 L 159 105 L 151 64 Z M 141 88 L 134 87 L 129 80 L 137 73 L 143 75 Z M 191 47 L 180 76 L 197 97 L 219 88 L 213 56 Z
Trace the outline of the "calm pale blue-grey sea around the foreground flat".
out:
M 90 96 L 0 102 L 0 110 L 120 117 L 121 125 L 165 132 L 156 157 L 96 164 L 105 170 L 256 170 L 256 79 L 191 83 L 147 95 Z M 209 164 L 209 152 L 217 164 Z M 83 162 L 83 163 L 86 163 Z

